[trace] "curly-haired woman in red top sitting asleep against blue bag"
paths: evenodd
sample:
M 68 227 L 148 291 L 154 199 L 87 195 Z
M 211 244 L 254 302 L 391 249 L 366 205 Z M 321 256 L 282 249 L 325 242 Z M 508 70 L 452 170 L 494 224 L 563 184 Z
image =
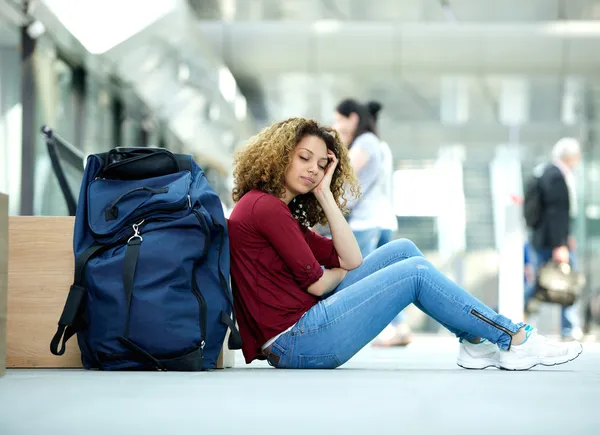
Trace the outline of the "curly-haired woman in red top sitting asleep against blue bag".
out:
M 337 132 L 292 118 L 236 156 L 229 219 L 231 274 L 244 357 L 277 368 L 336 368 L 408 304 L 460 338 L 458 365 L 526 370 L 582 351 L 513 323 L 441 274 L 408 240 L 364 262 L 346 222 L 345 186 L 358 194 Z M 332 239 L 309 228 L 328 223 Z

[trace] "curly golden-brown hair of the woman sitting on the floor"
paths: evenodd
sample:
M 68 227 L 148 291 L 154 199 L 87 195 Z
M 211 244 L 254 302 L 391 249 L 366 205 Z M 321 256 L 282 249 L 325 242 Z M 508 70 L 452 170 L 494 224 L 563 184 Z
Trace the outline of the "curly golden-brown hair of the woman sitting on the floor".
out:
M 290 118 L 267 127 L 236 153 L 233 171 L 235 187 L 232 193 L 234 202 L 238 202 L 252 189 L 283 198 L 285 172 L 292 162 L 296 145 L 305 136 L 321 138 L 327 149 L 332 150 L 337 157 L 338 165 L 331 179 L 331 193 L 338 207 L 347 211 L 346 203 L 349 198 L 345 194 L 350 192 L 353 197 L 360 195 L 358 182 L 350 165 L 348 148 L 342 143 L 337 131 L 303 118 Z M 312 192 L 296 196 L 289 207 L 294 218 L 302 225 L 312 227 L 317 223 L 327 224 L 325 213 Z

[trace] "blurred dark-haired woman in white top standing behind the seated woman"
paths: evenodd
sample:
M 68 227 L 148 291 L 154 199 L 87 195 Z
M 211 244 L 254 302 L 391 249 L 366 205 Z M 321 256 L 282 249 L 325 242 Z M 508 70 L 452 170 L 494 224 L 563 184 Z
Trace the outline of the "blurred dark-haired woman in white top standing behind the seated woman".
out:
M 381 235 L 380 216 L 383 152 L 377 136 L 376 116 L 381 105 L 364 105 L 354 99 L 343 100 L 335 111 L 334 128 L 350 150 L 350 163 L 358 177 L 360 199 L 348 204 L 348 223 L 363 257 L 377 249 Z

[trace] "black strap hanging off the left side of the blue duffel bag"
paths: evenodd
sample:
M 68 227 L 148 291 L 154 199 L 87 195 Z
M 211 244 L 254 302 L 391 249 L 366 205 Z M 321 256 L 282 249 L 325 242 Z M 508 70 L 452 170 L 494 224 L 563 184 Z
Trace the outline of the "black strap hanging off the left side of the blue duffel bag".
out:
M 86 289 L 83 286 L 85 265 L 92 257 L 109 247 L 110 245 L 94 243 L 87 248 L 83 254 L 75 259 L 74 282 L 69 290 L 65 307 L 63 308 L 60 320 L 58 321 L 58 329 L 50 342 L 50 352 L 52 352 L 53 355 L 63 355 L 66 350 L 65 347 L 67 341 L 69 341 L 69 339 L 84 326 L 82 307 L 86 299 Z M 58 349 L 59 344 L 61 344 L 60 350 Z

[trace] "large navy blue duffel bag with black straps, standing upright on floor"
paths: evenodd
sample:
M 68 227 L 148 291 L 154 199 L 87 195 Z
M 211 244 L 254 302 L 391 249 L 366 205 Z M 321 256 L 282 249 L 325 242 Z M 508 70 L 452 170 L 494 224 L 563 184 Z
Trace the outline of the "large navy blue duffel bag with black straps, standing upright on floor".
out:
M 229 348 L 241 348 L 223 208 L 191 156 L 89 156 L 73 248 L 53 354 L 77 334 L 87 369 L 197 371 L 215 367 L 227 328 Z

